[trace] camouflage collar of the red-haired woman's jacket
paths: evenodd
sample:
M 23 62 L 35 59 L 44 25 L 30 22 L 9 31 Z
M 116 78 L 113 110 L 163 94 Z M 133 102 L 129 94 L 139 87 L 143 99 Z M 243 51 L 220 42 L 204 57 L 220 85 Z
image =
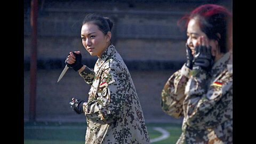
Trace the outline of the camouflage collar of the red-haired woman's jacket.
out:
M 213 77 L 216 77 L 219 75 L 225 68 L 227 68 L 227 65 L 232 65 L 232 56 L 233 52 L 229 51 L 223 55 L 217 62 L 214 63 L 212 70 L 211 70 L 211 75 Z

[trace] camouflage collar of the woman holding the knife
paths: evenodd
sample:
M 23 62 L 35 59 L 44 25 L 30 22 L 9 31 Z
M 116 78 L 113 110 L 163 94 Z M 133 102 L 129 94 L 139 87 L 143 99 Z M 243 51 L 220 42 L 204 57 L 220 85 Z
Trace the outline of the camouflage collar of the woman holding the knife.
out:
M 94 73 L 97 74 L 103 63 L 108 59 L 110 55 L 112 55 L 115 50 L 115 46 L 110 44 L 105 52 L 102 53 L 101 57 L 97 60 L 94 66 Z

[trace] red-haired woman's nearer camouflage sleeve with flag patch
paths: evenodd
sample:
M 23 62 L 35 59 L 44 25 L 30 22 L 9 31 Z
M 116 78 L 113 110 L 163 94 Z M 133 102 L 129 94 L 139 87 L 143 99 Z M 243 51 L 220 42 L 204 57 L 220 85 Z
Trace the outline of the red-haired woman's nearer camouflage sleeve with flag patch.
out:
M 189 79 L 183 105 L 191 127 L 208 129 L 232 119 L 233 75 L 226 69 L 211 84 L 209 79 L 202 69 Z

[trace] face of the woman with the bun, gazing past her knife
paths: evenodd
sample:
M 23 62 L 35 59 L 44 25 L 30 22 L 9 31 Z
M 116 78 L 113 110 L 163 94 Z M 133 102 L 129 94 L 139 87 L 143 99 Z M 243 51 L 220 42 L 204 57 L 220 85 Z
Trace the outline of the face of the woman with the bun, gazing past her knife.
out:
M 104 35 L 97 25 L 87 22 L 82 26 L 81 38 L 85 49 L 91 55 L 97 55 L 100 58 L 110 44 L 111 33 Z

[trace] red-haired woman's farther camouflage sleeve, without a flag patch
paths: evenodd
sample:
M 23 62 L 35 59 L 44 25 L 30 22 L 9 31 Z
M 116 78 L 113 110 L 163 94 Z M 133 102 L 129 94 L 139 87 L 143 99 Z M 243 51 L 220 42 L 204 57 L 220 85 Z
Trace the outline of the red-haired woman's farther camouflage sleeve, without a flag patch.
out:
M 175 118 L 183 116 L 183 101 L 185 99 L 185 86 L 188 81 L 190 69 L 184 64 L 176 71 L 164 85 L 162 90 L 162 109 L 166 114 Z

